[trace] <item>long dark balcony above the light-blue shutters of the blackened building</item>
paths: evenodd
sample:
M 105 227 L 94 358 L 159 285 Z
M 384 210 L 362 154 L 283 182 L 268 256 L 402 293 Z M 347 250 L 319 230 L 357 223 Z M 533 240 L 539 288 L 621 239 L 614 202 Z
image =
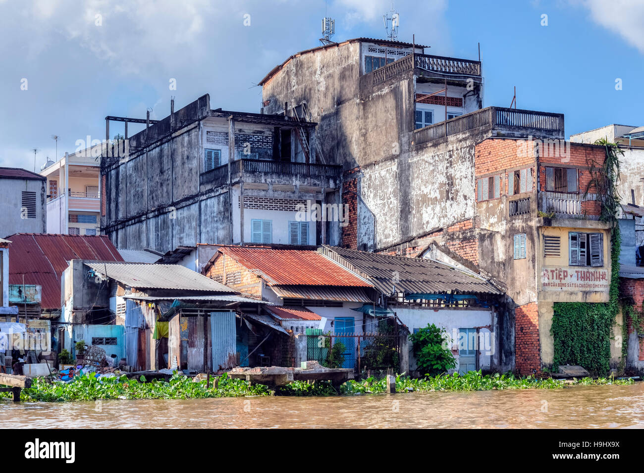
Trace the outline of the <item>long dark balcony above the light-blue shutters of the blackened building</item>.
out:
M 231 163 L 231 183 L 244 182 L 287 183 L 294 178 L 314 181 L 320 187 L 337 187 L 342 176 L 342 166 L 335 164 L 307 164 L 269 160 L 235 160 Z M 329 185 L 332 180 L 333 185 Z M 228 165 L 211 169 L 200 176 L 200 185 L 220 187 L 228 182 Z

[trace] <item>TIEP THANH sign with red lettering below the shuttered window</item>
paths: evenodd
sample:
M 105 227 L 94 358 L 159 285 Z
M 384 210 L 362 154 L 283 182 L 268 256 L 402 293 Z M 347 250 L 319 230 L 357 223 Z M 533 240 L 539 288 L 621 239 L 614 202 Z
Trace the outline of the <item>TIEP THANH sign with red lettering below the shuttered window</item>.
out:
M 541 272 L 541 286 L 544 291 L 607 292 L 610 284 L 610 275 L 606 268 L 544 266 Z

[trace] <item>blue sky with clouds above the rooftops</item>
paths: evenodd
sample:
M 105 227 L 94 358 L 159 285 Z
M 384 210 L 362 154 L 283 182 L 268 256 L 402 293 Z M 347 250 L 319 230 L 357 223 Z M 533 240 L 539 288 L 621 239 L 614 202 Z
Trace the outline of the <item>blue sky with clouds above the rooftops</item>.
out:
M 33 169 L 38 147 L 40 167 L 55 155 L 52 134 L 59 156 L 102 139 L 106 115 L 162 118 L 171 96 L 176 108 L 210 93 L 213 108 L 259 111 L 257 82 L 319 44 L 325 8 L 336 41 L 384 37 L 391 1 L 0 0 L 0 166 Z M 516 86 L 519 108 L 565 113 L 568 136 L 644 125 L 644 1 L 397 0 L 395 10 L 399 39 L 415 34 L 430 54 L 476 59 L 480 42 L 485 106 L 509 106 Z

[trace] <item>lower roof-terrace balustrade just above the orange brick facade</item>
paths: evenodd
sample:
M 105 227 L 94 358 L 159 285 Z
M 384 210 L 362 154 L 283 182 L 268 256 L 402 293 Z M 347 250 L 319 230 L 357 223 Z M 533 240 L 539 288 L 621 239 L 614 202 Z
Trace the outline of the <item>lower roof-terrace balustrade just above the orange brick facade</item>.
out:
M 390 64 L 391 65 L 391 64 Z M 564 138 L 564 115 L 505 107 L 487 107 L 413 131 L 415 146 L 468 131 L 489 136 Z

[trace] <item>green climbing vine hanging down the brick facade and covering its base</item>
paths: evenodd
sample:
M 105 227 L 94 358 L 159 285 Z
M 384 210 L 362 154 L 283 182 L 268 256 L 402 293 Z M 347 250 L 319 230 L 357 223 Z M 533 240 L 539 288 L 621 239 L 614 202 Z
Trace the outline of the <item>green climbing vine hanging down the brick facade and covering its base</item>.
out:
M 611 285 L 609 301 L 555 302 L 551 334 L 554 340 L 554 366 L 574 364 L 583 366 L 593 375 L 608 373 L 611 362 L 611 331 L 620 310 L 620 248 L 621 234 L 617 221 L 620 195 L 617 181 L 620 174 L 621 149 L 605 139 L 603 163 L 589 162 L 591 180 L 585 196 L 595 190 L 600 203 L 600 220 L 611 224 Z M 622 358 L 623 355 L 622 348 Z

